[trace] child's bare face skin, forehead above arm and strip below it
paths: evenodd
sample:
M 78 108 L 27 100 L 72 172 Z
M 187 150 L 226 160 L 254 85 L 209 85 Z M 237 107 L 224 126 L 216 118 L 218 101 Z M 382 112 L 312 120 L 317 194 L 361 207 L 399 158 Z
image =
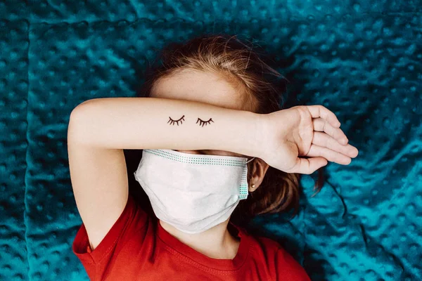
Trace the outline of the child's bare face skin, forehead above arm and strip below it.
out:
M 210 103 L 219 107 L 241 110 L 243 100 L 240 93 L 223 77 L 210 72 L 183 70 L 172 77 L 155 83 L 151 98 L 172 98 Z M 226 155 L 245 157 L 224 150 L 176 150 L 190 154 Z

